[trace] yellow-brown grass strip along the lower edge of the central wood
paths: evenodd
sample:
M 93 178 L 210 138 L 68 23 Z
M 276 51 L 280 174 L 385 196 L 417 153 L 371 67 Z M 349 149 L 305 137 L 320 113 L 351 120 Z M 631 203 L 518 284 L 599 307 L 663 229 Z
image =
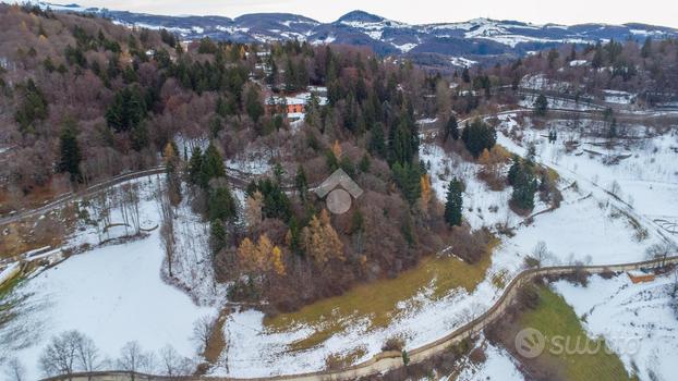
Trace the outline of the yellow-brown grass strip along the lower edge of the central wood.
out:
M 488 249 L 476 265 L 456 257 L 425 257 L 416 268 L 395 279 L 358 285 L 343 295 L 318 300 L 299 311 L 266 318 L 264 324 L 273 332 L 300 325 L 314 329 L 311 335 L 292 343 L 290 351 L 319 345 L 363 319 L 367 319 L 368 329 L 383 328 L 402 312 L 403 305 L 408 309 L 421 307 L 424 302 L 414 300 L 420 293 L 425 293 L 427 300 L 437 300 L 459 287 L 473 292 L 492 265 L 491 254 Z

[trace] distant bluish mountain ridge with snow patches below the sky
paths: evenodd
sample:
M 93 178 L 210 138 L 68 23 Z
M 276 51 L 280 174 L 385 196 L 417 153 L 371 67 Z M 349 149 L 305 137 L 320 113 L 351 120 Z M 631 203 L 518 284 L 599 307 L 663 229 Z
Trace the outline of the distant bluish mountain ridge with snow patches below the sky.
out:
M 34 3 L 36 3 L 34 1 Z M 459 64 L 485 59 L 508 59 L 562 44 L 595 44 L 598 40 L 644 40 L 645 37 L 678 37 L 678 29 L 640 23 L 623 25 L 534 25 L 518 21 L 475 19 L 468 22 L 412 25 L 363 11 L 353 11 L 331 23 L 290 13 L 226 16 L 164 16 L 77 4 L 37 2 L 56 11 L 95 13 L 116 23 L 167 28 L 184 39 L 210 37 L 239 42 L 270 42 L 299 39 L 311 44 L 368 46 L 379 54 L 407 56 Z

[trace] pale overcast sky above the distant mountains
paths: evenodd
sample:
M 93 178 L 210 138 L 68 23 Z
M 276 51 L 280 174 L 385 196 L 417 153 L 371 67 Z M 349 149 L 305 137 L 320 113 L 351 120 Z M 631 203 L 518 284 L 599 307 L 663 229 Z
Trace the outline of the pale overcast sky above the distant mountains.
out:
M 65 3 L 65 0 L 52 0 Z M 74 0 L 81 5 L 156 14 L 288 12 L 322 22 L 363 10 L 407 23 L 467 21 L 475 17 L 537 24 L 622 24 L 640 22 L 678 27 L 677 0 Z

